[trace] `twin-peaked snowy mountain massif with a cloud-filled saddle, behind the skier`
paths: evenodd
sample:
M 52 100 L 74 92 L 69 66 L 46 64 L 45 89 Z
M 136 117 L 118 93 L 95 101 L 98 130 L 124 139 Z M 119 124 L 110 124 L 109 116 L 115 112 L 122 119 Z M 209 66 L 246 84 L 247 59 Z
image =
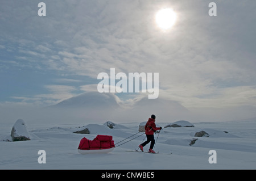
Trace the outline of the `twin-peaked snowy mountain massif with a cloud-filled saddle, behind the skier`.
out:
M 115 94 L 99 92 L 85 92 L 48 108 L 61 111 L 60 115 L 72 115 L 73 119 L 85 117 L 86 120 L 117 122 L 145 121 L 151 114 L 155 114 L 158 121 L 176 121 L 188 119 L 190 113 L 181 104 L 161 97 L 139 96 L 123 101 Z

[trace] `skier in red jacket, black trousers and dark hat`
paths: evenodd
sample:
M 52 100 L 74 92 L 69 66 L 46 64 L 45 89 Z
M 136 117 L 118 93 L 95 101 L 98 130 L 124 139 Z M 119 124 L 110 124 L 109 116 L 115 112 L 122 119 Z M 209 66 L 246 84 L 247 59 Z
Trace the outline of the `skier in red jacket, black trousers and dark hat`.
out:
M 143 151 L 143 147 L 147 145 L 150 141 L 150 149 L 148 150 L 148 153 L 155 153 L 153 150 L 155 145 L 155 138 L 154 138 L 154 132 L 156 130 L 161 130 L 162 127 L 157 128 L 155 125 L 155 115 L 151 115 L 150 118 L 148 118 L 148 121 L 145 125 L 145 134 L 147 136 L 147 141 L 143 142 L 141 145 L 139 145 L 139 148 Z

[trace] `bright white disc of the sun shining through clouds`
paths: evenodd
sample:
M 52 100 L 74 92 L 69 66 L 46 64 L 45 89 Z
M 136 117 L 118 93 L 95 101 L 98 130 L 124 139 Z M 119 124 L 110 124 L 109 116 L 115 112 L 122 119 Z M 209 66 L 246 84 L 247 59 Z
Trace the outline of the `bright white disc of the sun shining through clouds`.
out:
M 176 14 L 172 9 L 162 9 L 156 14 L 156 23 L 163 30 L 171 28 L 176 21 Z

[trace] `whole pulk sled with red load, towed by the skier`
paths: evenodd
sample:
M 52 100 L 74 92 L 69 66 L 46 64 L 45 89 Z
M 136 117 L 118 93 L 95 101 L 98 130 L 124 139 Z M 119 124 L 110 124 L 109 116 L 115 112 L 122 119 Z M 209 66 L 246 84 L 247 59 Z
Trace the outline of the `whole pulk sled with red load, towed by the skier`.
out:
M 82 138 L 78 152 L 80 154 L 109 153 L 115 148 L 114 140 L 109 135 L 97 135 L 93 140 Z

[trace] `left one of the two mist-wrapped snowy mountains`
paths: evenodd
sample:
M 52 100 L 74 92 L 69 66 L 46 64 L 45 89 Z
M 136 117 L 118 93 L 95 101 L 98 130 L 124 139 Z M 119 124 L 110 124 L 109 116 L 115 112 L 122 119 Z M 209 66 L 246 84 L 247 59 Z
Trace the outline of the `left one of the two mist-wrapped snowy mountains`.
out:
M 114 120 L 122 102 L 112 93 L 85 92 L 44 109 L 47 120 L 65 123 L 95 123 Z

